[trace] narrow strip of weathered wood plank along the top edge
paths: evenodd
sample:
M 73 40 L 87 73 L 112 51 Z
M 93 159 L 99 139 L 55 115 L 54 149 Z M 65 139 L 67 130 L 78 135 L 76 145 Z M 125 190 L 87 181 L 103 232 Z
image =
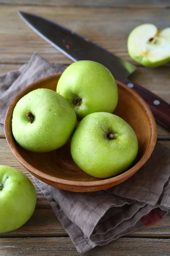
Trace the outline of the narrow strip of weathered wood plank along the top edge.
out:
M 81 6 L 81 7 L 150 7 L 163 8 L 170 6 L 169 0 L 0 0 L 4 4 L 25 4 L 34 6 Z

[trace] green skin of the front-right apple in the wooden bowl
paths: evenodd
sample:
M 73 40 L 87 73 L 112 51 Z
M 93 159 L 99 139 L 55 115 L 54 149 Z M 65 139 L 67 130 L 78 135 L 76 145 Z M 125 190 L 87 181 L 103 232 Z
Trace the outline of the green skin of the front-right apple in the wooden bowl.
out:
M 107 135 L 114 135 L 109 140 Z M 84 172 L 107 178 L 125 171 L 135 160 L 138 141 L 122 118 L 112 113 L 91 113 L 82 119 L 71 140 L 71 155 Z

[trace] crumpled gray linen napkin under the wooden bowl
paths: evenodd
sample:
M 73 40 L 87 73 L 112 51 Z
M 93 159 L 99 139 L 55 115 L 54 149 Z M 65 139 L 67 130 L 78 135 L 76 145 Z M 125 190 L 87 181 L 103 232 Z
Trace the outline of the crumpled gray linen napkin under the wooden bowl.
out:
M 34 54 L 19 70 L 0 76 L 0 123 L 20 90 L 64 69 Z M 110 189 L 68 192 L 33 178 L 79 253 L 150 225 L 170 209 L 170 151 L 160 143 L 139 172 Z

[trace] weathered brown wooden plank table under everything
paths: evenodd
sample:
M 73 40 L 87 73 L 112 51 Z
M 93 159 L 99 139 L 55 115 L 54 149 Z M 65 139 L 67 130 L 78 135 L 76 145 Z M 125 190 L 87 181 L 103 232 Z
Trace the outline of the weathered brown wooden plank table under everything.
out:
M 135 2 L 136 6 L 133 6 Z M 170 7 L 169 0 L 0 0 L 0 73 L 18 69 L 28 62 L 33 52 L 38 52 L 51 63 L 71 63 L 65 55 L 26 26 L 18 17 L 17 10 L 56 20 L 136 64 L 127 53 L 127 36 L 141 23 L 154 23 L 159 29 L 170 26 L 170 9 L 167 7 Z M 137 70 L 131 75 L 131 79 L 170 103 L 170 64 L 155 69 L 139 64 L 136 66 Z M 170 132 L 159 125 L 157 128 L 158 140 L 170 148 Z M 8 148 L 2 126 L 0 164 L 15 167 L 31 178 Z M 35 187 L 37 206 L 33 216 L 20 229 L 0 234 L 0 255 L 79 255 L 46 198 L 36 185 Z M 119 238 L 106 246 L 94 248 L 83 255 L 165 256 L 170 255 L 169 249 L 170 216 L 166 216 L 149 227 Z

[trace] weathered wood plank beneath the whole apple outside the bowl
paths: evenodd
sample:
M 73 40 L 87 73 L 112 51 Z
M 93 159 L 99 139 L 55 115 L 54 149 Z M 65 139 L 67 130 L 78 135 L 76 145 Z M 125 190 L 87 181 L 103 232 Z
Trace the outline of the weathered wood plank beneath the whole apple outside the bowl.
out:
M 170 141 L 162 141 L 163 145 L 170 148 Z M 17 168 L 24 172 L 30 180 L 34 183 L 33 178 L 26 169 L 21 166 L 17 159 L 9 149 L 6 140 L 0 140 L 0 165 L 8 165 Z M 30 220 L 18 230 L 13 232 L 0 234 L 1 238 L 4 237 L 35 237 L 35 236 L 68 236 L 63 230 L 62 225 L 57 220 L 53 210 L 47 199 L 34 183 L 37 191 L 37 205 L 34 214 Z M 170 238 L 170 215 L 164 219 L 156 222 L 155 224 L 146 227 L 142 230 L 137 230 L 134 233 L 129 234 L 130 237 L 160 237 Z

